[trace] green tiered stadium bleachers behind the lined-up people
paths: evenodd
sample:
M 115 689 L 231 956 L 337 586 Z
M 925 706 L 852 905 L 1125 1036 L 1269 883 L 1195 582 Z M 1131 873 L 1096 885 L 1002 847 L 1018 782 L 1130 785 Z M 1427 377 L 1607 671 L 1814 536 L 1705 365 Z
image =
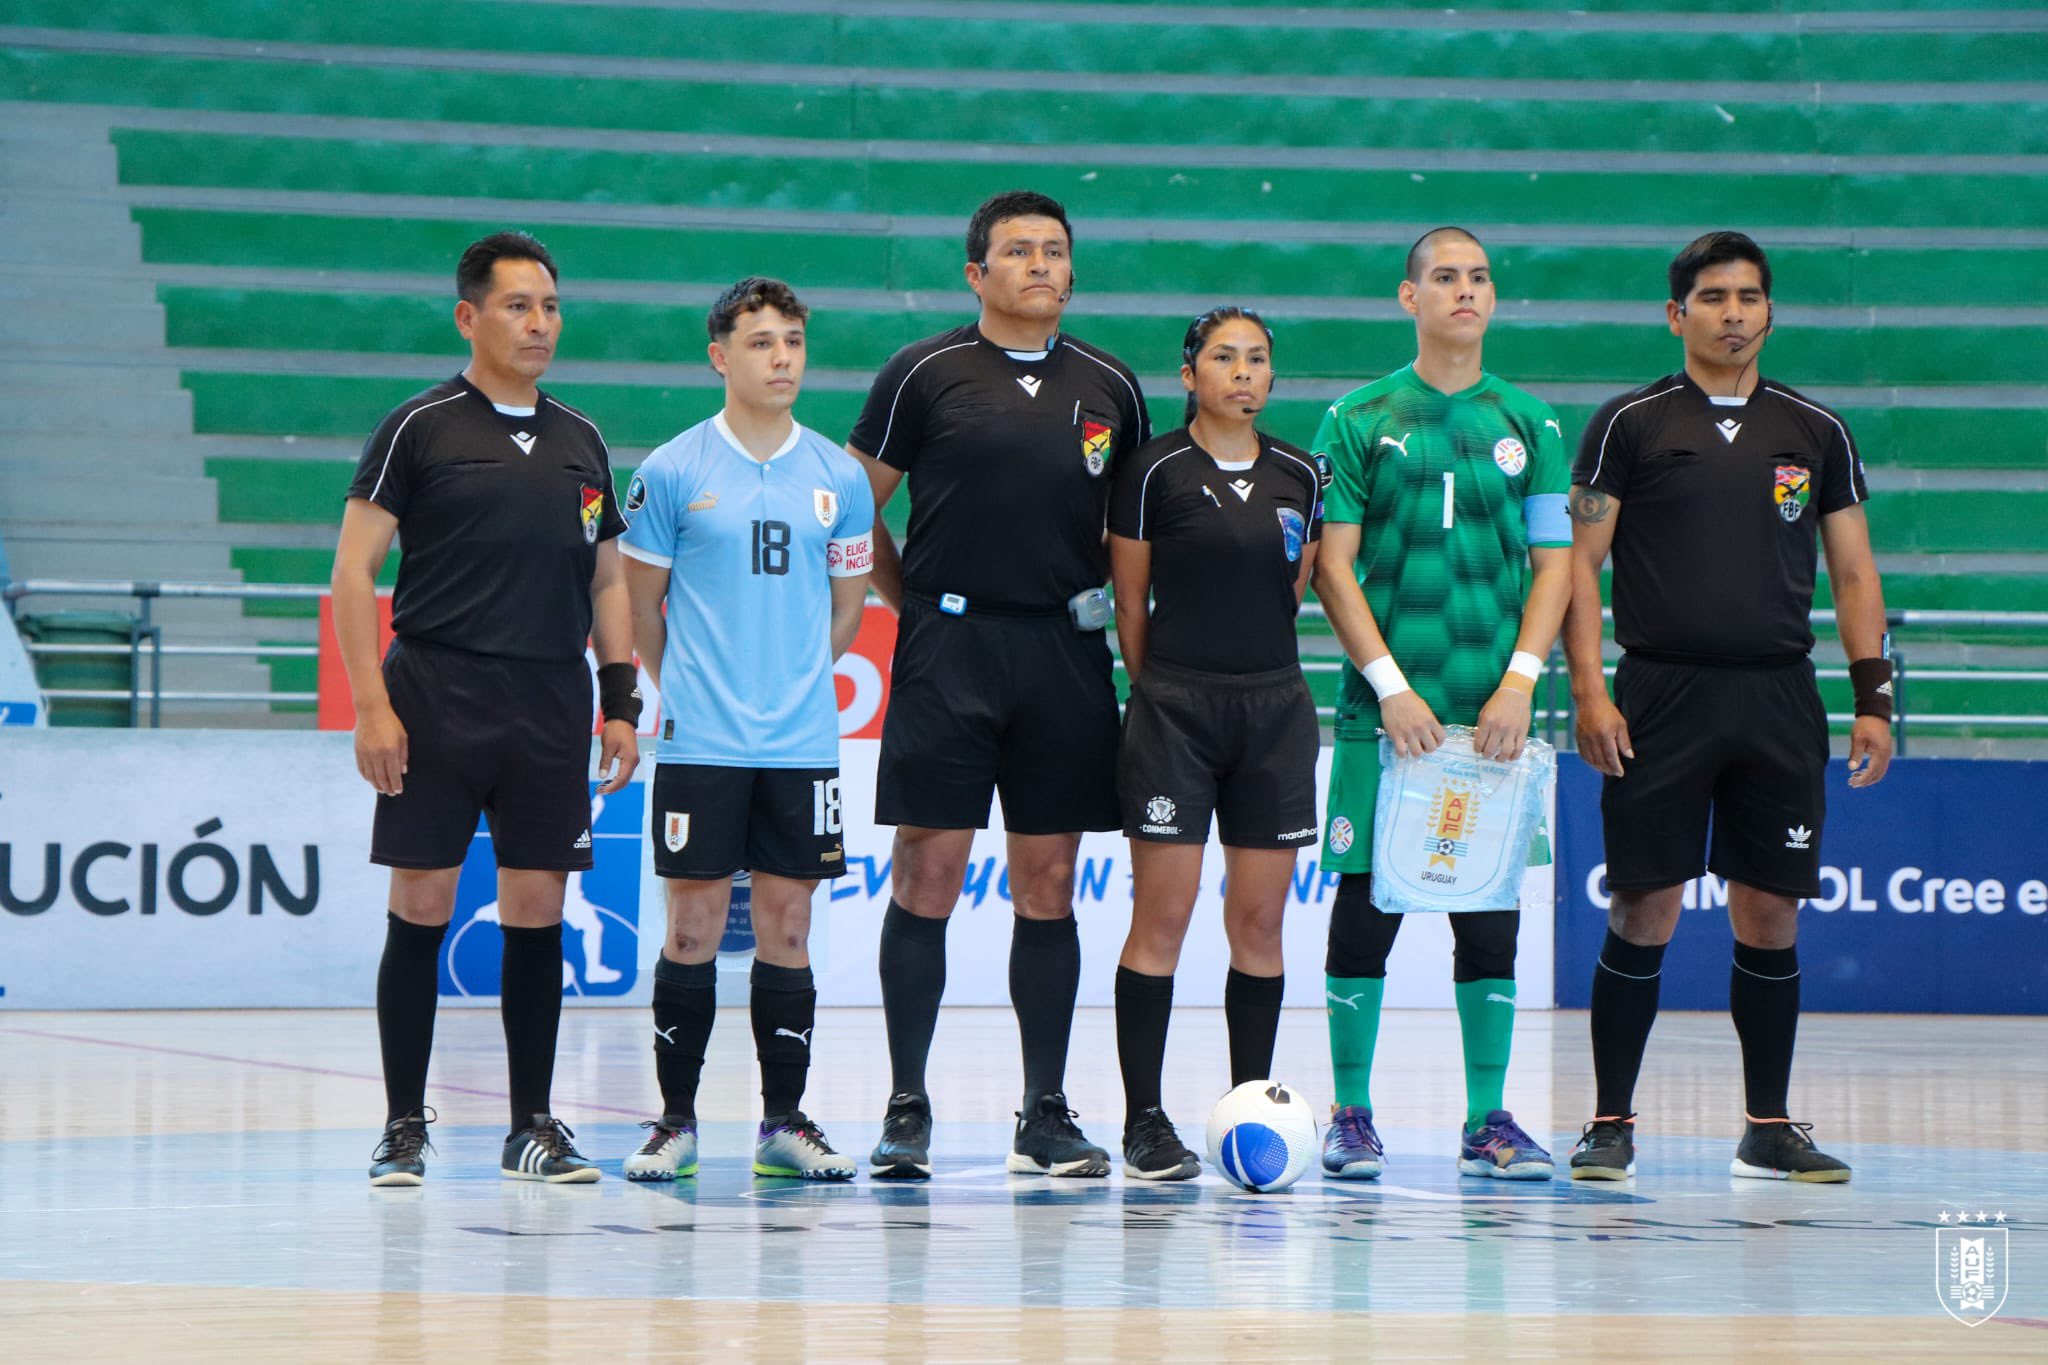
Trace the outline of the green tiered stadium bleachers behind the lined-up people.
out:
M 1749 227 L 1780 280 L 1765 370 L 1858 432 L 1892 606 L 2048 610 L 2040 10 L 1032 16 L 936 0 L 14 0 L 0 115 L 70 108 L 80 164 L 111 143 L 106 203 L 141 239 L 121 278 L 162 309 L 150 354 L 197 432 L 176 448 L 205 456 L 221 524 L 207 534 L 250 579 L 326 577 L 362 434 L 459 364 L 446 274 L 471 237 L 520 225 L 561 258 L 551 387 L 629 469 L 717 405 L 700 315 L 723 282 L 776 272 L 813 303 L 799 415 L 838 438 L 895 346 L 969 315 L 971 205 L 1032 184 L 1075 215 L 1073 329 L 1139 370 L 1155 422 L 1178 420 L 1186 317 L 1229 299 L 1278 329 L 1270 422 L 1298 442 L 1331 397 L 1409 358 L 1391 282 L 1425 227 L 1489 241 L 1489 368 L 1573 434 L 1673 366 L 1671 250 Z M 1305 639 L 1329 657 L 1327 636 Z M 1901 643 L 1919 669 L 2048 661 L 2048 632 Z M 297 663 L 276 675 L 309 686 Z M 1847 710 L 1843 684 L 1827 692 Z M 1985 677 L 1927 681 L 1915 708 L 2048 704 L 2038 684 Z M 1966 751 L 2019 735 L 1946 733 Z

